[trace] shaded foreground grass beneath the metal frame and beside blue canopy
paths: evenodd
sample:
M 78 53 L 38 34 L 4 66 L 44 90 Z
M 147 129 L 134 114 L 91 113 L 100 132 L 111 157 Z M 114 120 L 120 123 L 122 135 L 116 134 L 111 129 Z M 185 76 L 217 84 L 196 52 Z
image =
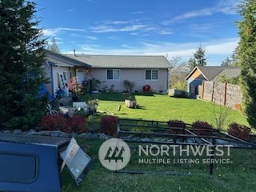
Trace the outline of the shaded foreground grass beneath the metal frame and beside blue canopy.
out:
M 159 175 L 159 174 L 118 174 L 106 170 L 98 161 L 98 149 L 102 140 L 78 140 L 82 146 L 86 144 L 86 152 L 94 158 L 94 166 L 86 176 L 82 186 L 76 186 L 65 169 L 62 174 L 62 191 L 246 191 L 253 192 L 256 185 L 255 150 L 231 150 L 231 164 L 214 166 L 214 175 L 208 174 L 208 166 L 190 166 L 187 171 L 201 174 L 193 175 Z M 88 150 L 89 149 L 89 150 Z M 154 165 L 155 166 L 155 165 Z M 150 166 L 156 169 L 156 167 Z M 170 165 L 171 166 L 171 165 Z M 171 166 L 178 170 L 180 167 Z M 141 166 L 130 165 L 130 169 L 141 169 Z M 168 166 L 158 166 L 168 170 Z

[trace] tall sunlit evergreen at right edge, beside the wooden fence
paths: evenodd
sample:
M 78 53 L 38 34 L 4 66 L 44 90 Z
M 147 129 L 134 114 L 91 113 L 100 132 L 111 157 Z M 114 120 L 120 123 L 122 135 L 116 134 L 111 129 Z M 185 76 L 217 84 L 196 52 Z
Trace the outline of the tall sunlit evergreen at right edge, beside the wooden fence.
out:
M 238 22 L 240 82 L 243 110 L 250 126 L 256 128 L 256 1 L 243 0 L 238 5 L 242 20 Z

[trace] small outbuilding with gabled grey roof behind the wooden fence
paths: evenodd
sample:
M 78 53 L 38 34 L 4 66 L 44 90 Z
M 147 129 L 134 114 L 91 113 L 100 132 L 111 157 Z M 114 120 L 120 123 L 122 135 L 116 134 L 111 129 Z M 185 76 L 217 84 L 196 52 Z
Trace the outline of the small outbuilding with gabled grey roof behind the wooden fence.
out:
M 236 78 L 239 74 L 238 66 L 195 66 L 186 77 L 187 92 L 198 94 L 203 81 L 218 82 L 222 76 Z

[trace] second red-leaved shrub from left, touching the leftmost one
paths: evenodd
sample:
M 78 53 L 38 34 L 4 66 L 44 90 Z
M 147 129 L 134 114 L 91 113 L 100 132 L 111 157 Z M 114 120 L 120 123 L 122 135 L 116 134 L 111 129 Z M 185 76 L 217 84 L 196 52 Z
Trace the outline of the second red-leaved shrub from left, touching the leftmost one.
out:
M 68 132 L 81 134 L 83 132 L 86 132 L 86 130 L 88 129 L 87 120 L 81 115 L 74 115 L 71 118 L 67 118 L 66 124 L 69 129 Z

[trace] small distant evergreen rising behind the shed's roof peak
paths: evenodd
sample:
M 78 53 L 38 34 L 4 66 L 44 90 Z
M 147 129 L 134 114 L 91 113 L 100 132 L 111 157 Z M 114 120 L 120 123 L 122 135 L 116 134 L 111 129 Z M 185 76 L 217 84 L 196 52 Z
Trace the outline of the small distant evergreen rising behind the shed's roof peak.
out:
M 202 45 L 198 46 L 195 51 L 194 57 L 190 58 L 189 65 L 192 70 L 195 66 L 206 66 L 206 58 L 205 58 L 206 48 L 202 47 Z

